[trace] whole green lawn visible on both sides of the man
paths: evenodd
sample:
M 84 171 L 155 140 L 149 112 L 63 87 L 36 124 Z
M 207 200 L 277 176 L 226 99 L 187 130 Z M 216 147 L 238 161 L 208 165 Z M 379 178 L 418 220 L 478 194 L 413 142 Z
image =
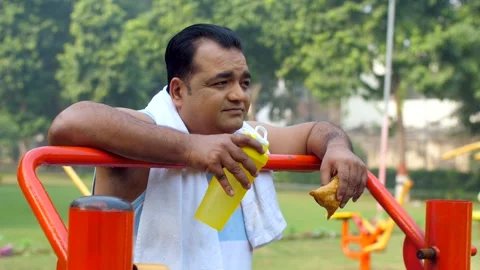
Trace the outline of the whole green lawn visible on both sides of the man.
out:
M 83 177 L 91 179 L 90 177 Z M 69 203 L 80 197 L 80 192 L 62 174 L 42 174 L 50 197 L 57 210 L 65 219 Z M 90 186 L 90 183 L 87 182 Z M 279 191 L 278 198 L 288 222 L 286 236 L 302 232 L 328 232 L 338 235 L 340 222 L 327 221 L 325 212 L 305 192 Z M 479 209 L 480 205 L 475 205 Z M 424 203 L 406 206 L 407 211 L 418 224 L 424 227 Z M 357 203 L 350 203 L 343 211 L 361 212 L 366 217 L 375 215 L 375 201 L 368 195 Z M 55 269 L 56 257 L 43 235 L 36 219 L 27 205 L 14 175 L 4 175 L 0 184 L 0 246 L 13 243 L 21 246 L 30 243 L 34 250 L 46 251 L 42 254 L 27 254 L 11 258 L 0 258 L 0 270 Z M 473 243 L 480 245 L 476 225 Z M 282 240 L 263 247 L 254 253 L 254 269 L 358 269 L 358 262 L 343 256 L 338 237 L 322 239 Z M 396 229 L 388 248 L 372 255 L 373 269 L 405 269 L 402 259 L 403 234 Z M 480 269 L 480 259 L 472 259 L 472 269 Z

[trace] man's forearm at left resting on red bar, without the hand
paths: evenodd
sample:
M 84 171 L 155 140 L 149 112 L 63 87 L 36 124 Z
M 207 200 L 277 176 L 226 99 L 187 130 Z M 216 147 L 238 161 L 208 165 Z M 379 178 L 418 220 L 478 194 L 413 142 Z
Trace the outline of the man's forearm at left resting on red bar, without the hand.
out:
M 136 160 L 179 164 L 184 162 L 188 135 L 103 104 L 82 102 L 54 120 L 48 140 L 50 145 L 92 147 Z

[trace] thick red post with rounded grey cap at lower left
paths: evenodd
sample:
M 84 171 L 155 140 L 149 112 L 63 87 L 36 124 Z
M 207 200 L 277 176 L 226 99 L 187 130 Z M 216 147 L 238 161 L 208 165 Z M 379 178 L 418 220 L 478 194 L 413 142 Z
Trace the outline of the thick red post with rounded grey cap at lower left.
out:
M 68 227 L 68 270 L 132 270 L 133 208 L 114 197 L 72 202 Z

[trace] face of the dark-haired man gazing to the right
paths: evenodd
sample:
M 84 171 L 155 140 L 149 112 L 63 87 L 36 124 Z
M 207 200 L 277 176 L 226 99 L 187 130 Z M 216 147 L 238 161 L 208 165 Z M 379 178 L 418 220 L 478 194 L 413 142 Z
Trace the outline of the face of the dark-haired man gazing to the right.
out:
M 250 107 L 245 56 L 209 40 L 197 45 L 190 78 L 170 84 L 173 102 L 190 133 L 233 133 Z

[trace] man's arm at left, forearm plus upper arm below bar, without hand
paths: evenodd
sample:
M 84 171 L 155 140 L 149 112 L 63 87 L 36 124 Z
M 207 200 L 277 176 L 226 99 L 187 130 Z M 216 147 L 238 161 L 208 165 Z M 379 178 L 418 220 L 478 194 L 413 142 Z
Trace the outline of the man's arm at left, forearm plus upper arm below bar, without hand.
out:
M 169 133 L 179 137 L 169 136 Z M 170 149 L 170 155 L 160 150 L 160 147 L 169 149 L 168 145 L 178 145 L 175 140 L 182 140 L 184 134 L 177 133 L 157 127 L 142 112 L 94 102 L 79 102 L 55 118 L 49 129 L 48 141 L 55 146 L 92 147 L 132 159 L 177 163 L 182 159 L 182 149 Z M 158 145 L 159 148 L 147 147 L 149 145 Z M 97 167 L 93 192 L 95 195 L 133 201 L 145 190 L 149 172 L 149 168 Z

